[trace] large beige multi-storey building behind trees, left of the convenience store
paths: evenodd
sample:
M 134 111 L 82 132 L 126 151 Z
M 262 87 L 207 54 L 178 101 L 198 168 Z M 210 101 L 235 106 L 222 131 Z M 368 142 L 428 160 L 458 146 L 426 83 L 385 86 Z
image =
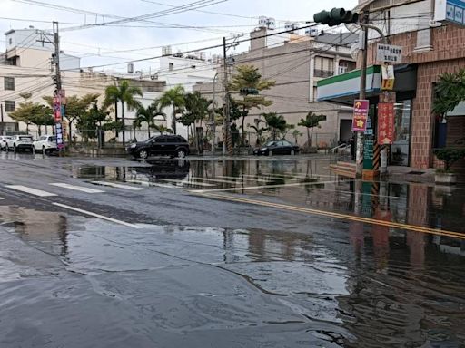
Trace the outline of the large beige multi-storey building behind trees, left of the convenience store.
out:
M 303 135 L 297 142 L 303 146 L 306 141 L 306 129 L 297 126 L 309 111 L 326 115 L 321 122 L 322 128 L 315 131 L 312 146 L 331 147 L 338 141 L 351 138 L 351 112 L 348 108 L 328 102 L 316 102 L 316 82 L 324 77 L 337 75 L 355 69 L 355 61 L 351 57 L 350 43 L 357 40 L 353 34 L 315 33 L 300 35 L 287 34 L 277 40 L 272 30 L 266 27 L 257 28 L 251 33 L 250 50 L 229 57 L 232 61 L 229 76 L 237 73 L 241 65 L 253 65 L 262 74 L 262 79 L 275 81 L 275 85 L 260 95 L 272 101 L 269 107 L 253 109 L 244 121 L 246 131 L 253 132 L 247 125 L 262 119 L 264 112 L 277 112 L 284 116 L 288 124 L 292 124 Z M 214 85 L 216 105 L 223 103 L 223 73 L 220 70 Z M 194 91 L 202 92 L 213 99 L 213 83 L 196 85 Z M 239 97 L 240 98 L 240 97 Z M 238 120 L 237 127 L 242 127 Z M 291 140 L 291 134 L 287 135 Z M 293 140 L 293 139 L 292 139 Z

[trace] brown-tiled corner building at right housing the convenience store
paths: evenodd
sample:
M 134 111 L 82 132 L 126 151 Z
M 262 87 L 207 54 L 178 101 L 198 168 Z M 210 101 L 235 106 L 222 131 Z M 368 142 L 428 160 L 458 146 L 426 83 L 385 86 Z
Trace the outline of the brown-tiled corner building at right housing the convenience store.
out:
M 435 3 L 434 0 L 423 0 L 399 5 L 395 1 L 375 0 L 361 1 L 355 8 L 359 12 L 369 12 L 372 24 L 379 27 L 389 43 L 402 47 L 402 62 L 395 66 L 396 131 L 390 150 L 391 165 L 415 169 L 437 167 L 440 163 L 435 160 L 435 148 L 465 145 L 465 105 L 460 104 L 445 119 L 432 112 L 434 86 L 440 75 L 465 68 L 465 27 L 436 22 Z M 378 80 L 371 77 L 381 69 L 380 63 L 375 61 L 376 44 L 381 43 L 381 38 L 375 31 L 370 31 L 369 37 L 367 96 L 376 120 L 381 76 L 378 74 Z M 360 71 L 358 73 L 358 80 L 347 75 L 344 77 L 346 83 L 352 80 L 351 87 L 355 87 L 344 95 L 334 93 L 341 89 L 341 81 L 327 79 L 320 82 L 319 100 L 347 105 L 353 103 L 360 90 L 357 88 L 360 86 Z

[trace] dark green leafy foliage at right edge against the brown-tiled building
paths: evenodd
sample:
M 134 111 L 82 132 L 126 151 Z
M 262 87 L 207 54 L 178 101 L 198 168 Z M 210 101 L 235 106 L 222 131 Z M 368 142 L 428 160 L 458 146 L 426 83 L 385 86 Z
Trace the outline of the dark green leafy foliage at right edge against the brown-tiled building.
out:
M 440 116 L 453 111 L 465 100 L 465 69 L 458 73 L 443 73 L 434 88 L 432 111 Z

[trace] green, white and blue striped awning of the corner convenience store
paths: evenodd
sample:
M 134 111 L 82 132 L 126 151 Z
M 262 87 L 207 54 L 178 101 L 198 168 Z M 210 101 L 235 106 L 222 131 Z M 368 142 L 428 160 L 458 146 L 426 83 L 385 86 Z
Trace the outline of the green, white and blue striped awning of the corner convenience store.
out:
M 396 81 L 393 92 L 408 93 L 411 97 L 411 93 L 417 88 L 416 65 L 396 65 L 394 73 Z M 317 82 L 317 101 L 353 105 L 353 101 L 359 97 L 360 77 L 359 69 Z M 367 99 L 377 97 L 381 92 L 381 65 L 371 65 L 367 68 L 366 81 Z

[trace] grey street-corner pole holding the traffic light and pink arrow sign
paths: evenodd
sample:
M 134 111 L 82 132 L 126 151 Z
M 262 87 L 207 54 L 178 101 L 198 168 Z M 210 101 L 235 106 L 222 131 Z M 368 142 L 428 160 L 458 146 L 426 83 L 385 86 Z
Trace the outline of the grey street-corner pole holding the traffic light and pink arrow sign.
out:
M 368 15 L 364 14 L 361 22 L 367 24 Z M 360 71 L 360 94 L 359 99 L 363 100 L 366 98 L 367 90 L 367 61 L 368 61 L 368 27 L 361 25 L 361 30 L 363 33 L 363 46 L 361 54 L 361 71 Z M 355 156 L 356 163 L 356 177 L 361 178 L 363 174 L 363 133 L 357 132 L 357 150 Z

